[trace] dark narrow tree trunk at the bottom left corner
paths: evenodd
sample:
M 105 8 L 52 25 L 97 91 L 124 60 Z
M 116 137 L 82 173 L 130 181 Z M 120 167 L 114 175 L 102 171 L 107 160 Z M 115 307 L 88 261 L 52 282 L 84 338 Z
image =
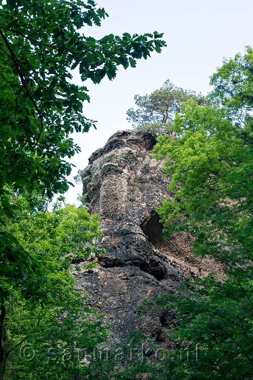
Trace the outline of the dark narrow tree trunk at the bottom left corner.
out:
M 9 356 L 9 339 L 5 323 L 6 307 L 1 305 L 0 314 L 0 380 L 4 380 Z

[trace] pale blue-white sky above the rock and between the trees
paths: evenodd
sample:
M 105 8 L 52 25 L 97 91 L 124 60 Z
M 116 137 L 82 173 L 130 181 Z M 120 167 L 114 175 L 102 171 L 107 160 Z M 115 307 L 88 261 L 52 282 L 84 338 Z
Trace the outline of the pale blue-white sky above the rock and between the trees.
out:
M 177 87 L 206 95 L 210 91 L 209 77 L 222 65 L 223 58 L 245 53 L 253 46 L 252 0 L 98 0 L 109 14 L 101 27 L 82 29 L 96 39 L 106 34 L 124 32 L 143 34 L 163 32 L 167 47 L 154 52 L 147 60 L 138 60 L 136 68 L 119 68 L 113 81 L 103 79 L 98 85 L 90 80 L 91 102 L 83 105 L 84 115 L 97 120 L 97 130 L 74 133 L 72 138 L 81 152 L 70 162 L 78 169 L 88 165 L 91 154 L 102 147 L 120 129 L 131 129 L 126 111 L 134 107 L 134 95 L 150 94 L 170 79 Z M 78 72 L 73 82 L 81 85 Z M 72 181 L 72 176 L 69 177 Z M 81 184 L 65 194 L 67 203 L 78 203 Z

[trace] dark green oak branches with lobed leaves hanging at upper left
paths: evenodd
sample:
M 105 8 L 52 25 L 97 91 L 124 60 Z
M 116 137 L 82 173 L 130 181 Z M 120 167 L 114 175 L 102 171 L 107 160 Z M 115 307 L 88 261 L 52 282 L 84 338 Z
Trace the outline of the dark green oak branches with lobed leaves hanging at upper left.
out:
M 78 66 L 82 81 L 111 80 L 118 66 L 134 67 L 166 45 L 157 32 L 83 35 L 83 26 L 99 26 L 106 16 L 93 0 L 9 0 L 0 7 L 1 186 L 48 196 L 66 191 L 71 167 L 64 158 L 79 151 L 68 134 L 95 126 L 82 114 L 88 89 L 71 83 L 71 70 Z

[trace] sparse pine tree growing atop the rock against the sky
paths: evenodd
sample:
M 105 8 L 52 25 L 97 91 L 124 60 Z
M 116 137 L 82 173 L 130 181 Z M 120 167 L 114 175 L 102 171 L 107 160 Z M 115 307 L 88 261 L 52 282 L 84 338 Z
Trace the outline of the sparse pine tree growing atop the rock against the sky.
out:
M 174 136 L 173 120 L 176 113 L 180 112 L 180 104 L 189 98 L 197 100 L 199 104 L 204 102 L 202 95 L 175 87 L 167 80 L 150 95 L 135 95 L 138 108 L 134 110 L 132 107 L 126 112 L 127 120 L 133 123 L 134 128 L 148 130 L 156 135 Z

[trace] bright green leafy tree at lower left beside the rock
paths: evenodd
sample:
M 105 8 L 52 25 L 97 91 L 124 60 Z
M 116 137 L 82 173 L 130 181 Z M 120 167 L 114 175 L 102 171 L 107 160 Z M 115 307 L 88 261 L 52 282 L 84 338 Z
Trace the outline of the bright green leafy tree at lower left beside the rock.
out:
M 62 370 L 60 358 L 64 349 L 73 349 L 76 343 L 76 348 L 89 351 L 107 336 L 101 319 L 97 319 L 95 311 L 85 306 L 83 294 L 75 290 L 75 279 L 71 274 L 74 259 L 87 260 L 92 253 L 103 253 L 103 249 L 94 244 L 94 239 L 102 237 L 98 229 L 99 220 L 82 205 L 62 208 L 57 202 L 54 210 L 49 212 L 45 209 L 45 199 L 33 196 L 36 206 L 32 211 L 30 200 L 17 195 L 15 203 L 19 209 L 19 220 L 10 224 L 7 221 L 6 228 L 32 259 L 37 260 L 43 269 L 44 281 L 38 280 L 37 272 L 26 275 L 22 258 L 16 265 L 24 270 L 24 278 L 11 281 L 6 273 L 10 263 L 3 263 L 1 279 L 6 282 L 5 291 L 9 296 L 4 299 L 3 290 L 0 293 L 0 379 L 4 378 L 8 359 L 10 375 L 7 378 L 13 378 L 15 373 L 19 373 L 20 378 L 41 378 L 41 373 L 43 378 L 50 378 L 50 373 L 57 377 Z M 95 264 L 92 260 L 87 269 Z M 29 296 L 27 292 L 30 292 Z M 87 313 L 93 315 L 94 322 L 85 317 Z M 36 358 L 32 363 L 19 355 L 23 345 L 28 349 L 34 348 Z M 54 358 L 50 352 L 54 352 Z M 59 362 L 56 362 L 56 357 Z M 75 361 L 76 358 L 72 357 L 68 365 L 65 363 L 64 370 L 68 376 Z M 52 365 L 50 370 L 49 363 Z M 49 374 L 44 373 L 45 370 Z

